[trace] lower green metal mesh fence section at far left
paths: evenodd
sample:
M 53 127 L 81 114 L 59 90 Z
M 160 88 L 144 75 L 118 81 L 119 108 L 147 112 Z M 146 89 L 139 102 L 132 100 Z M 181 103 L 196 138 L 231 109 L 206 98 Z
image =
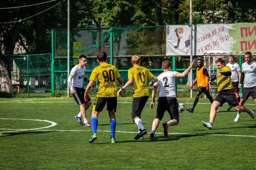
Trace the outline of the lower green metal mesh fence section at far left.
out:
M 51 54 L 0 55 L 0 96 L 52 96 Z M 3 92 L 5 88 L 5 92 Z

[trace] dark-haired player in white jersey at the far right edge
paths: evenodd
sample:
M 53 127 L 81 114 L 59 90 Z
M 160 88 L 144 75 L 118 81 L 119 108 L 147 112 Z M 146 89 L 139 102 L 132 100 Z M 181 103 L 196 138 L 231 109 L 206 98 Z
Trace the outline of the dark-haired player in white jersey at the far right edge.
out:
M 239 88 L 241 88 L 242 83 L 244 82 L 244 88 L 241 96 L 241 100 L 239 102 L 240 106 L 243 106 L 246 100 L 251 95 L 256 103 L 256 62 L 252 61 L 252 54 L 250 52 L 246 52 L 244 54 L 245 62 L 242 64 L 242 73 L 241 79 L 239 83 Z M 255 115 L 251 116 L 253 119 Z M 238 122 L 240 119 L 240 112 L 236 115 L 235 122 Z

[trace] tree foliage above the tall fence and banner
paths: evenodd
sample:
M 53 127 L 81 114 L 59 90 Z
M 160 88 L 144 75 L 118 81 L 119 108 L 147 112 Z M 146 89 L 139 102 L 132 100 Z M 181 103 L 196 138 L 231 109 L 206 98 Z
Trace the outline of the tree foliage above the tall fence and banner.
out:
M 188 24 L 189 2 L 189 0 L 70 1 L 70 28 Z M 1 1 L 1 8 L 5 8 L 0 10 L 2 54 L 51 53 L 51 30 L 67 29 L 67 1 L 40 3 L 41 1 L 38 0 Z M 255 22 L 256 3 L 253 0 L 196 0 L 193 1 L 192 11 L 193 24 Z M 162 34 L 158 33 L 158 35 Z M 162 39 L 158 37 L 157 40 Z M 162 51 L 160 42 L 156 44 L 159 48 L 157 54 L 160 54 Z

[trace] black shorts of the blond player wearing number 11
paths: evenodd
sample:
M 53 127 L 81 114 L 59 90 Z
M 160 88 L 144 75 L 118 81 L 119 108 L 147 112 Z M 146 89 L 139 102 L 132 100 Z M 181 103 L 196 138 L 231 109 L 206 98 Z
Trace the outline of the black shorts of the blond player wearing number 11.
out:
M 135 117 L 139 117 L 141 112 L 148 101 L 149 96 L 142 96 L 142 97 L 134 97 L 132 100 L 132 107 L 131 107 L 131 118 L 134 120 Z

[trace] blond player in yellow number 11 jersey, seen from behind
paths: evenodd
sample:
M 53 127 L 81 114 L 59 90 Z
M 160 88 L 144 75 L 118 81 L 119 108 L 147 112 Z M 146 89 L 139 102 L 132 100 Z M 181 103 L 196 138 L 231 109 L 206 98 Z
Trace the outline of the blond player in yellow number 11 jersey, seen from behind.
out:
M 154 75 L 151 74 L 147 68 L 140 66 L 140 56 L 135 55 L 131 57 L 131 63 L 133 64 L 133 67 L 128 70 L 128 81 L 117 92 L 117 96 L 119 97 L 122 94 L 122 90 L 133 83 L 134 95 L 132 101 L 131 118 L 139 127 L 139 132 L 134 138 L 137 140 L 142 138 L 143 135 L 147 134 L 147 130 L 145 130 L 141 122 L 141 112 L 149 97 L 148 79 L 153 79 L 154 82 L 157 82 L 158 79 L 157 77 L 154 77 Z

